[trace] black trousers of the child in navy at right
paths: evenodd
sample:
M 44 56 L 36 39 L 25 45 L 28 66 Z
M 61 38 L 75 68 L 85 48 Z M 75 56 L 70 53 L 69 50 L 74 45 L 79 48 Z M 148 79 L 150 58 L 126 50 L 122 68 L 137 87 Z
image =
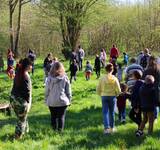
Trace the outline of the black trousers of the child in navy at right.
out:
M 132 108 L 131 111 L 129 112 L 129 117 L 130 119 L 135 122 L 138 127 L 140 126 L 141 124 L 141 121 L 142 121 L 142 116 L 141 116 L 141 110 L 139 110 L 138 113 L 135 112 L 134 110 L 135 108 Z

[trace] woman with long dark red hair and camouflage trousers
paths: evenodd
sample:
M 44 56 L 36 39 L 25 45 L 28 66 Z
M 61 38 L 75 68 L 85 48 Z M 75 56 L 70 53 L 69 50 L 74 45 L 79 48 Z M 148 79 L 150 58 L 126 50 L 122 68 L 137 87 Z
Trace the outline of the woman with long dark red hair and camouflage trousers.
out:
M 17 116 L 15 139 L 20 139 L 25 132 L 29 132 L 27 117 L 32 101 L 32 84 L 28 72 L 30 72 L 31 69 L 32 62 L 28 58 L 24 58 L 14 78 L 11 91 L 10 103 Z

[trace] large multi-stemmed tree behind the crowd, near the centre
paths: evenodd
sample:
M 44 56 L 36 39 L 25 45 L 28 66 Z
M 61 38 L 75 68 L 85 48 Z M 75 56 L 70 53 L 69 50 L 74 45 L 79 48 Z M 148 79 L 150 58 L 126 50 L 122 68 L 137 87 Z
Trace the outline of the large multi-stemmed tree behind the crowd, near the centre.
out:
M 80 32 L 84 24 L 84 18 L 89 8 L 98 0 L 44 0 L 47 9 L 55 10 L 59 17 L 60 29 L 63 39 L 63 54 L 68 58 L 71 50 L 75 50 Z

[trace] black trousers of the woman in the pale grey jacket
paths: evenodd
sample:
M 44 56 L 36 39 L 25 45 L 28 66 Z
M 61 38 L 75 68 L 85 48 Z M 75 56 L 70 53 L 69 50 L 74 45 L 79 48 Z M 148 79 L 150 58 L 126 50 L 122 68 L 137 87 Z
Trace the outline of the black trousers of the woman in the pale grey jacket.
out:
M 67 106 L 49 107 L 51 113 L 51 125 L 54 130 L 62 131 L 65 124 Z

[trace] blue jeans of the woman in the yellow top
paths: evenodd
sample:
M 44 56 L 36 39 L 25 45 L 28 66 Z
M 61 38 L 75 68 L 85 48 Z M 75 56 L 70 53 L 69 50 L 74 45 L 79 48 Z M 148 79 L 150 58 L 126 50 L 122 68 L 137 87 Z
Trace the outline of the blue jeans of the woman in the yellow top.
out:
M 102 96 L 102 113 L 104 128 L 114 127 L 115 96 Z

